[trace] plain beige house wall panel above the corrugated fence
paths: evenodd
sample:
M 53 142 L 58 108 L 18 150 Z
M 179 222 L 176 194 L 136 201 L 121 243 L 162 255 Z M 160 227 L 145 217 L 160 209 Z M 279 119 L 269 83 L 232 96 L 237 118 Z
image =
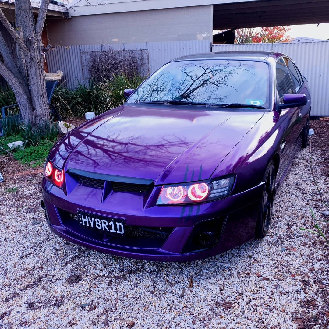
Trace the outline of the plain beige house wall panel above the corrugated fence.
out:
M 47 21 L 56 45 L 211 40 L 213 6 L 73 16 Z

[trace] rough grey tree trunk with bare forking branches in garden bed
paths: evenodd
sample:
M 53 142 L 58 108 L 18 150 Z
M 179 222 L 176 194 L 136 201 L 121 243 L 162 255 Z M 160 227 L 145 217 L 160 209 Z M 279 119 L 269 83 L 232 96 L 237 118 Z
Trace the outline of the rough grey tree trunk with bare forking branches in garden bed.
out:
M 0 9 L 0 21 L 16 42 L 17 61 L 13 62 L 10 51 L 0 37 L 0 74 L 12 87 L 24 124 L 45 126 L 50 121 L 43 69 L 43 44 L 41 33 L 50 0 L 41 0 L 35 23 L 30 0 L 15 2 L 16 28 L 9 23 Z

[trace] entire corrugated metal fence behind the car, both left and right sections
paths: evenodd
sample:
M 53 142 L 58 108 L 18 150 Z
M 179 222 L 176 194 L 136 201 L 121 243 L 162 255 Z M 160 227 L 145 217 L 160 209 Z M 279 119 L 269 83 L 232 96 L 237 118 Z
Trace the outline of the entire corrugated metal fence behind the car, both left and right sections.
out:
M 150 73 L 179 56 L 211 51 L 209 40 L 122 43 L 111 45 L 57 46 L 48 53 L 50 72 L 62 70 L 65 86 L 75 88 L 88 81 L 86 58 L 91 51 L 142 49 L 148 56 Z M 213 51 L 263 50 L 290 56 L 308 79 L 312 92 L 312 115 L 329 116 L 329 41 L 296 43 L 250 43 L 213 45 Z

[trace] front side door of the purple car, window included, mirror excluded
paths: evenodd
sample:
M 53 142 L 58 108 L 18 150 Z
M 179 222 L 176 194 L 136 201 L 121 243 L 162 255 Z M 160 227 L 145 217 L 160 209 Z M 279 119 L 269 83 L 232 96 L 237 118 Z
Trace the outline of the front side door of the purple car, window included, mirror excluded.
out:
M 276 90 L 277 90 L 277 103 L 283 103 L 284 94 L 296 93 L 296 87 L 291 79 L 286 59 L 279 57 L 275 66 L 276 75 Z M 296 143 L 298 140 L 298 131 L 301 124 L 301 115 L 299 107 L 292 107 L 281 110 L 280 116 L 284 117 L 283 138 L 281 140 L 281 168 L 279 170 L 279 177 L 284 173 L 291 157 L 294 154 Z

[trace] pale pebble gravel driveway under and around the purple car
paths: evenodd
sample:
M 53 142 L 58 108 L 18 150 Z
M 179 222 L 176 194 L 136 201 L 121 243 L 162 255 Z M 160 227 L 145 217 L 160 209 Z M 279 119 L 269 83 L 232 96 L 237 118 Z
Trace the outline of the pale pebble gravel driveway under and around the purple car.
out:
M 329 123 L 321 129 L 312 163 L 328 200 L 329 158 L 318 145 L 328 143 Z M 328 328 L 328 247 L 299 230 L 314 224 L 309 206 L 329 218 L 309 157 L 307 148 L 294 160 L 264 240 L 190 263 L 124 259 L 61 240 L 39 207 L 41 174 L 9 178 L 0 183 L 0 327 Z

